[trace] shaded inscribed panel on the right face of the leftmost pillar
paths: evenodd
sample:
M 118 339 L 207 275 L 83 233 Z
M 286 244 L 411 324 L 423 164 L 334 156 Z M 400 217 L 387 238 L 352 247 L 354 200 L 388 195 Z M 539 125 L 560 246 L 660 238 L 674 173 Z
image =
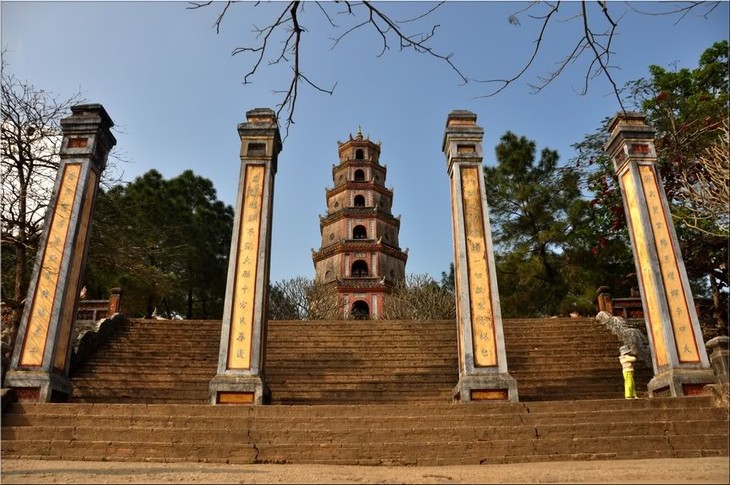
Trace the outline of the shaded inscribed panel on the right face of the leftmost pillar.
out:
M 86 184 L 86 193 L 84 194 L 83 209 L 81 218 L 79 219 L 79 232 L 76 235 L 76 243 L 74 244 L 73 261 L 69 267 L 70 276 L 68 278 L 68 290 L 63 306 L 63 316 L 61 317 L 60 330 L 58 333 L 58 347 L 54 358 L 53 366 L 59 371 L 66 370 L 66 357 L 68 346 L 71 343 L 71 329 L 76 320 L 76 299 L 80 291 L 81 285 L 81 264 L 84 260 L 84 250 L 86 249 L 86 235 L 89 231 L 91 223 L 91 209 L 94 204 L 94 195 L 96 193 L 96 184 L 98 175 L 94 170 L 89 172 L 89 180 Z

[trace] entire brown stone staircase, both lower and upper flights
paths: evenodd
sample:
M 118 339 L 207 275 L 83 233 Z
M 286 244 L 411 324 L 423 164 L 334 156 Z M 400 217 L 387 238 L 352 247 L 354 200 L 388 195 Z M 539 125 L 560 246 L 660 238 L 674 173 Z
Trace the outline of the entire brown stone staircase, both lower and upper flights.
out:
M 623 399 L 620 344 L 592 319 L 504 322 L 519 403 L 451 402 L 454 322 L 272 321 L 272 405 L 211 406 L 220 328 L 121 323 L 72 371 L 74 403 L 7 407 L 2 458 L 460 465 L 728 455 L 728 410 L 711 398 Z M 637 370 L 641 391 L 650 377 Z

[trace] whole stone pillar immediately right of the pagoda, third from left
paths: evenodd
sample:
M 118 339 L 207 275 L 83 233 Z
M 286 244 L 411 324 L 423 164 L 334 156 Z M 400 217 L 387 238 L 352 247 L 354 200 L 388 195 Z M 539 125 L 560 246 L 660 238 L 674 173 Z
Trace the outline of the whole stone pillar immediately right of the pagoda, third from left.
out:
M 451 179 L 456 320 L 461 401 L 518 400 L 507 372 L 502 313 L 489 227 L 482 139 L 484 130 L 469 111 L 452 111 L 442 150 Z

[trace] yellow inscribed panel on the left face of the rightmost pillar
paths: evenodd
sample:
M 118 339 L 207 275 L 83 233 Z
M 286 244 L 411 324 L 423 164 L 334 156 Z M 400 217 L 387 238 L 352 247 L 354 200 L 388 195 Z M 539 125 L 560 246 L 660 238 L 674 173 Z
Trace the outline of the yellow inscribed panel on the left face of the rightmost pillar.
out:
M 639 267 L 639 282 L 642 285 L 642 292 L 646 302 L 646 321 L 651 331 L 652 340 L 654 342 L 654 355 L 656 356 L 657 366 L 664 367 L 667 365 L 667 342 L 664 338 L 662 330 L 661 313 L 659 312 L 659 302 L 656 297 L 657 281 L 651 271 L 651 259 L 649 257 L 648 245 L 651 241 L 647 239 L 644 233 L 644 226 L 641 224 L 641 207 L 638 199 L 638 187 L 634 184 L 631 171 L 627 170 L 621 175 L 624 185 L 624 195 L 626 196 L 626 205 L 628 210 L 628 224 L 634 235 L 632 244 L 634 245 L 634 255 L 636 264 Z

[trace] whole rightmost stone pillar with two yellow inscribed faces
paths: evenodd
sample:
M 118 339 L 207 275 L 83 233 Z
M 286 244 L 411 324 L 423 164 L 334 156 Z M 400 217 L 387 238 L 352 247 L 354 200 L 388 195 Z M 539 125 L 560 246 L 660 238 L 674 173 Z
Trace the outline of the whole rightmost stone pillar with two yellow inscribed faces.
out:
M 617 114 L 606 151 L 621 186 L 651 345 L 649 396 L 694 395 L 715 376 L 656 170 L 655 132 L 645 119 L 641 113 Z

